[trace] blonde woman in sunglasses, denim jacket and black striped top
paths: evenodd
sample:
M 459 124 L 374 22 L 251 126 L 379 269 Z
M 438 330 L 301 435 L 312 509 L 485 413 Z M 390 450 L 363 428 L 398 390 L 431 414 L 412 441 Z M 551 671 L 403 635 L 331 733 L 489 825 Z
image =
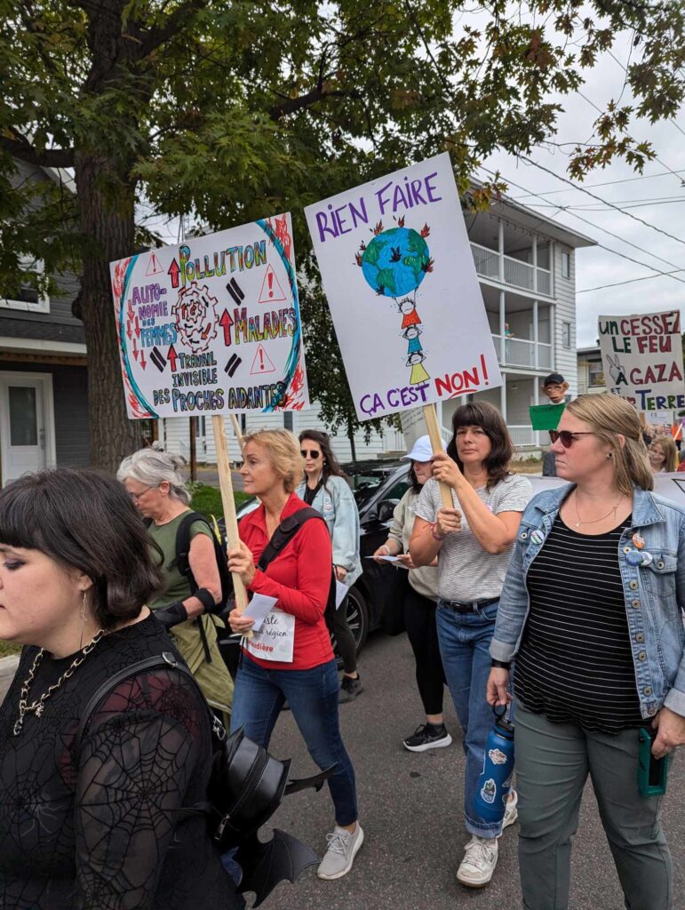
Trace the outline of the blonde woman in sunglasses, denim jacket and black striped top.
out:
M 656 758 L 685 743 L 685 511 L 650 492 L 625 399 L 567 405 L 552 449 L 569 484 L 526 510 L 490 646 L 488 699 L 516 658 L 519 866 L 527 910 L 569 906 L 570 847 L 590 774 L 631 910 L 670 910 L 659 796 L 638 789 L 639 728 Z

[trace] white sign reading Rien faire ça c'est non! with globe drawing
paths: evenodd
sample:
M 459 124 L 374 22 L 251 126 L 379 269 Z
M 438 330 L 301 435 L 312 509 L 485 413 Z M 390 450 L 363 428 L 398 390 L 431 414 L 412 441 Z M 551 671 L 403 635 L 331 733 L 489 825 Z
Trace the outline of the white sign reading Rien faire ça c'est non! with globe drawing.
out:
M 306 214 L 360 420 L 501 385 L 448 154 Z

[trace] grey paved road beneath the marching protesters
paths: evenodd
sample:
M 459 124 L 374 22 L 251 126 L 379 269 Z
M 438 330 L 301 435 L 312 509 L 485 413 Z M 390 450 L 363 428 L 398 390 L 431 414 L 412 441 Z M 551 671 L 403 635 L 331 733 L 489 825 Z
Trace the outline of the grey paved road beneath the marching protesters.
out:
M 360 672 L 367 689 L 356 702 L 341 707 L 341 723 L 357 771 L 360 820 L 367 840 L 345 878 L 321 882 L 307 870 L 296 885 L 278 885 L 263 907 L 518 910 L 516 827 L 500 841 L 498 868 L 488 888 L 468 891 L 456 881 L 461 847 L 468 840 L 460 824 L 463 753 L 459 742 L 419 754 L 408 753 L 400 744 L 401 736 L 421 721 L 406 637 L 373 635 L 362 653 Z M 448 727 L 457 738 L 454 713 L 447 714 Z M 279 719 L 271 751 L 294 758 L 295 776 L 312 769 L 290 713 Z M 671 771 L 664 811 L 675 867 L 674 910 L 685 908 L 684 767 L 680 755 Z M 327 790 L 287 797 L 274 821 L 321 852 L 331 824 Z M 574 849 L 570 910 L 622 908 L 620 886 L 588 787 Z

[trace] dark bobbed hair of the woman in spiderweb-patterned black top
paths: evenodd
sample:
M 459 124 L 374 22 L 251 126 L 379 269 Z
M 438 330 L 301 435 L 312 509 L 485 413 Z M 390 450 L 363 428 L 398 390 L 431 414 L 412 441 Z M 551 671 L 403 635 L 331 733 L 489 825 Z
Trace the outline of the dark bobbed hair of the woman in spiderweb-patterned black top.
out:
M 55 468 L 8 483 L 0 490 L 0 542 L 84 572 L 103 629 L 136 619 L 164 588 L 135 506 L 120 483 L 99 471 Z

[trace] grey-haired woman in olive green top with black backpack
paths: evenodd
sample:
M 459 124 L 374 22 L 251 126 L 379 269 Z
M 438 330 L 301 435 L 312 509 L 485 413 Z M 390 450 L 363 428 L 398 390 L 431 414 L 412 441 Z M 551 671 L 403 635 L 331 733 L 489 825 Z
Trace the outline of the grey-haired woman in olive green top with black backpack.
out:
M 176 531 L 192 511 L 182 474 L 183 459 L 154 448 L 141 449 L 121 462 L 116 472 L 136 509 L 149 521 L 147 532 L 164 553 L 165 589 L 148 607 L 166 627 L 176 648 L 217 711 L 230 713 L 233 681 L 217 645 L 217 626 L 207 615 L 221 600 L 221 578 L 206 521 L 190 525 L 188 562 L 197 590 L 176 565 Z M 227 719 L 227 718 L 226 718 Z

